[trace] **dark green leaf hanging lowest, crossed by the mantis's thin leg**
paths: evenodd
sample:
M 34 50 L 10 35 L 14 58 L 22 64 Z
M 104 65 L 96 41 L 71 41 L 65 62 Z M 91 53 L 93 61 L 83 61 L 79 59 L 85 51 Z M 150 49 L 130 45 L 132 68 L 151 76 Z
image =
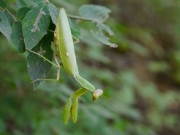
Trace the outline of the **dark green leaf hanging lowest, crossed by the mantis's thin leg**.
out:
M 32 51 L 37 52 L 52 61 L 53 51 L 51 49 L 51 40 L 49 36 L 44 36 L 39 44 L 32 49 Z M 49 62 L 39 57 L 37 54 L 30 52 L 27 56 L 27 67 L 32 82 L 37 79 L 46 78 L 51 66 L 52 65 Z M 33 83 L 33 89 L 36 89 L 41 82 L 42 80 L 35 81 Z

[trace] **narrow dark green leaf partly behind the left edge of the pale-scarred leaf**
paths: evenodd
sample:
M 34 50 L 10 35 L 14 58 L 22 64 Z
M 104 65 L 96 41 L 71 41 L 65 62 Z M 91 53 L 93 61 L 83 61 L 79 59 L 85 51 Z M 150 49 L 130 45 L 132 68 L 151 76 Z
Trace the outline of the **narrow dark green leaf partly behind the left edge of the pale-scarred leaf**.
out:
M 12 26 L 12 35 L 11 39 L 13 44 L 15 45 L 18 53 L 25 52 L 25 44 L 22 34 L 22 23 L 21 22 L 14 22 Z

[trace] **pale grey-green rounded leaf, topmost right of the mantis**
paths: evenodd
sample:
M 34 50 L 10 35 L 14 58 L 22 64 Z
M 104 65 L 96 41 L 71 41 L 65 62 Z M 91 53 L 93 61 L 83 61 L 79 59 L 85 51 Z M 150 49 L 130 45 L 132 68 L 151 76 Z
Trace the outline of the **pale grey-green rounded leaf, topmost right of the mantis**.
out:
M 79 14 L 82 17 L 96 22 L 104 22 L 109 17 L 110 12 L 111 10 L 106 7 L 91 4 L 86 4 L 79 8 Z

